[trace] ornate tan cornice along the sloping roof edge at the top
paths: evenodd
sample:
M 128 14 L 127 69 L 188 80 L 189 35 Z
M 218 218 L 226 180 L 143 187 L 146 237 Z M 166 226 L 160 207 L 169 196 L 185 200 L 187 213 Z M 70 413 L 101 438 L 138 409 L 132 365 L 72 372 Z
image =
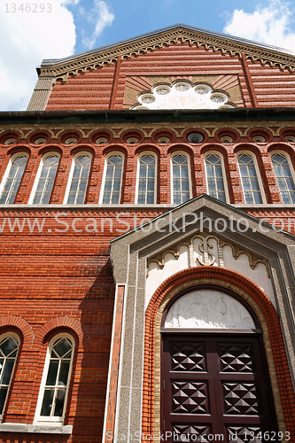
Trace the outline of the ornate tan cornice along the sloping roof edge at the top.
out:
M 281 71 L 289 69 L 291 73 L 295 72 L 295 55 L 288 52 L 276 51 L 271 47 L 255 45 L 254 43 L 246 43 L 241 40 L 233 40 L 226 36 L 211 35 L 209 33 L 198 31 L 186 27 L 175 27 L 158 34 L 148 35 L 137 40 L 119 43 L 116 46 L 107 49 L 78 55 L 76 58 L 61 60 L 59 63 L 50 65 L 45 63 L 40 67 L 40 75 L 54 75 L 56 80 L 62 79 L 67 81 L 70 74 L 77 75 L 79 72 L 85 73 L 87 70 L 111 65 L 118 57 L 131 58 L 138 56 L 140 53 L 147 51 L 155 51 L 156 48 L 163 48 L 172 43 L 189 43 L 190 46 L 196 44 L 203 46 L 206 51 L 221 51 L 222 55 L 229 53 L 230 57 L 242 57 L 245 53 L 246 58 L 252 61 L 260 62 L 262 66 L 268 64 L 271 67 L 278 66 Z M 56 60 L 54 60 L 56 62 Z

